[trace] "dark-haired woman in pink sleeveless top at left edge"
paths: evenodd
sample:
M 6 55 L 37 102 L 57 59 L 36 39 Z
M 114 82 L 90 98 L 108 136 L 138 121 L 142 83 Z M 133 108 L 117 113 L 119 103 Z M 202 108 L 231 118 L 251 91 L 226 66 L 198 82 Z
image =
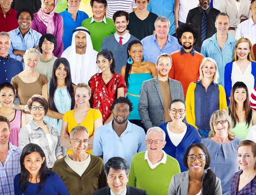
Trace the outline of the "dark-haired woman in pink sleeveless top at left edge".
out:
M 0 115 L 10 121 L 12 133 L 9 135 L 9 141 L 14 146 L 19 146 L 18 137 L 20 128 L 26 125 L 26 116 L 20 110 L 13 109 L 15 89 L 11 83 L 0 84 Z

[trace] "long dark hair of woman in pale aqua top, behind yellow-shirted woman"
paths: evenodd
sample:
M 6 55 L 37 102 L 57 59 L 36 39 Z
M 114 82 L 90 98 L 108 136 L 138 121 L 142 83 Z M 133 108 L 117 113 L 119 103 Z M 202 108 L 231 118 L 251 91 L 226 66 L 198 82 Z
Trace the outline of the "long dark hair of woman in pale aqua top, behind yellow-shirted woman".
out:
M 55 75 L 55 71 L 61 63 L 65 66 L 66 72 L 67 72 L 65 83 L 67 86 L 67 92 L 71 98 L 71 110 L 73 110 L 75 107 L 75 95 L 74 95 L 74 88 L 71 80 L 70 64 L 66 58 L 60 57 L 57 60 L 55 60 L 53 64 L 52 80 L 50 81 L 50 87 L 49 87 L 49 105 L 50 105 L 49 108 L 55 112 L 58 112 L 58 109 L 56 108 L 54 103 L 54 93 L 55 93 L 55 90 L 57 89 L 57 77 Z

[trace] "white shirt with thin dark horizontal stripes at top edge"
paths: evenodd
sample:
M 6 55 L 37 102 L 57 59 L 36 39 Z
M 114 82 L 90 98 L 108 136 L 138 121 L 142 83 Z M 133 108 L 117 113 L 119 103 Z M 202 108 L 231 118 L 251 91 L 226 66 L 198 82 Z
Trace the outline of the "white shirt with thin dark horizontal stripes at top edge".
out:
M 132 9 L 137 8 L 135 0 L 107 0 L 107 17 L 113 19 L 113 14 L 116 11 L 126 11 L 129 14 Z

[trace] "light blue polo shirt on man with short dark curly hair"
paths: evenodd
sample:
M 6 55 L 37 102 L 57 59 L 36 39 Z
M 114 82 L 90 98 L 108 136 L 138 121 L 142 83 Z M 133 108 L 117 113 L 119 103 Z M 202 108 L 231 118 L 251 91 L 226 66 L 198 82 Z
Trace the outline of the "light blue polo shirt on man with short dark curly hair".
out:
M 129 165 L 133 156 L 138 152 L 147 150 L 144 130 L 127 120 L 125 131 L 118 137 L 112 128 L 113 120 L 110 123 L 99 127 L 96 130 L 93 141 L 93 155 L 103 155 L 104 163 L 112 157 L 124 158 Z

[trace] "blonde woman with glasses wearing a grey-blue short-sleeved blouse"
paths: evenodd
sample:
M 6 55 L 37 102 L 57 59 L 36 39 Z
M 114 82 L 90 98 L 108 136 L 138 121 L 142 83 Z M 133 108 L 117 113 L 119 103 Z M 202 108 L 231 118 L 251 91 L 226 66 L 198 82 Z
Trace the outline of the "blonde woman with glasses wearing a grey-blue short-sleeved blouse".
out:
M 242 141 L 241 138 L 235 137 L 231 125 L 231 118 L 226 112 L 223 110 L 213 112 L 209 138 L 201 142 L 210 152 L 212 159 L 210 167 L 221 180 L 223 195 L 230 195 L 231 178 L 238 171 L 238 163 L 234 160 L 237 155 L 236 148 Z

